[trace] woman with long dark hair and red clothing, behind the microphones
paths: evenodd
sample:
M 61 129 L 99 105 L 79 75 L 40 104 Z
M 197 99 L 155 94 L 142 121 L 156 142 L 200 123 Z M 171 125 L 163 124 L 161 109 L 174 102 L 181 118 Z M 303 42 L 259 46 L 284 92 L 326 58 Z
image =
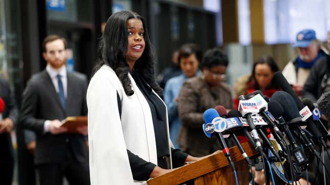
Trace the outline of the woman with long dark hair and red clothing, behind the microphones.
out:
M 269 56 L 263 56 L 255 61 L 252 74 L 239 77 L 235 83 L 235 108 L 238 109 L 239 101 L 237 97 L 240 95 L 260 90 L 263 95 L 271 97 L 278 91 L 279 87 L 273 82 L 273 76 L 276 71 L 278 71 L 278 66 L 275 60 Z

